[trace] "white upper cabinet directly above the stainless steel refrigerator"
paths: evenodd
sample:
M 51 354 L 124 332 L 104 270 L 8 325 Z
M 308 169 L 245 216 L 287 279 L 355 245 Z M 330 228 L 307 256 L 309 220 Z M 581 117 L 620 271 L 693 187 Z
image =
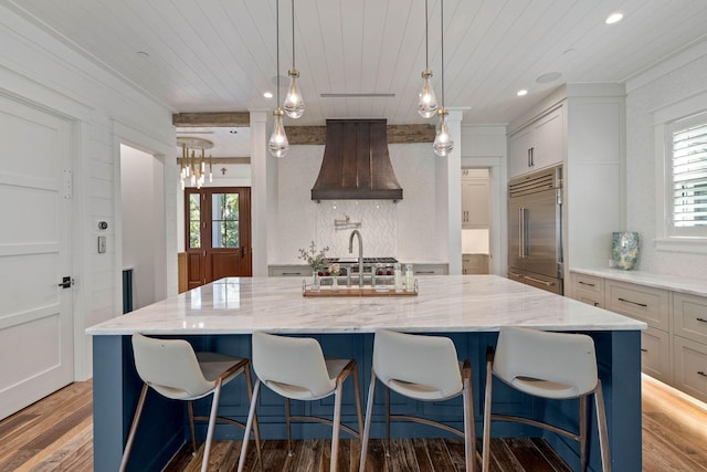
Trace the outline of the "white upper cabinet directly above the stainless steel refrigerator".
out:
M 563 119 L 559 106 L 510 136 L 509 178 L 562 162 Z

